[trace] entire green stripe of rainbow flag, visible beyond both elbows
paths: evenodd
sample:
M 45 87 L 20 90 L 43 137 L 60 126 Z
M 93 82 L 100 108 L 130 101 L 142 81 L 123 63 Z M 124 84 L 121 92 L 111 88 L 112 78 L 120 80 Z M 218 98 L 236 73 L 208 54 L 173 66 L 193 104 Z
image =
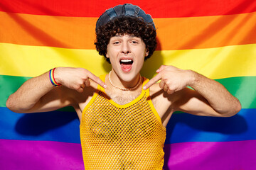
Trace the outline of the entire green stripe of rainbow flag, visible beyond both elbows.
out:
M 13 94 L 28 79 L 30 77 L 0 75 L 0 107 L 6 107 L 8 96 Z M 231 77 L 216 79 L 216 81 L 223 84 L 233 96 L 240 100 L 242 108 L 256 108 L 256 77 Z M 70 108 L 64 108 L 64 111 L 70 111 Z

